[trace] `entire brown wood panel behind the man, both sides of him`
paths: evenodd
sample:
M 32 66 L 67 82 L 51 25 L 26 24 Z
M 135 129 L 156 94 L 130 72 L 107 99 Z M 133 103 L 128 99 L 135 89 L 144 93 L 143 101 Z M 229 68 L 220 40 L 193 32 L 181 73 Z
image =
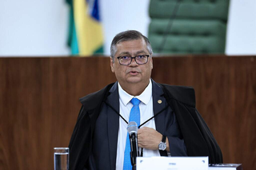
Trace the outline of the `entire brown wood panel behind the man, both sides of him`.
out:
M 190 85 L 226 163 L 256 169 L 256 57 L 154 57 L 154 81 Z M 0 58 L 0 169 L 53 169 L 79 97 L 115 81 L 108 57 Z

